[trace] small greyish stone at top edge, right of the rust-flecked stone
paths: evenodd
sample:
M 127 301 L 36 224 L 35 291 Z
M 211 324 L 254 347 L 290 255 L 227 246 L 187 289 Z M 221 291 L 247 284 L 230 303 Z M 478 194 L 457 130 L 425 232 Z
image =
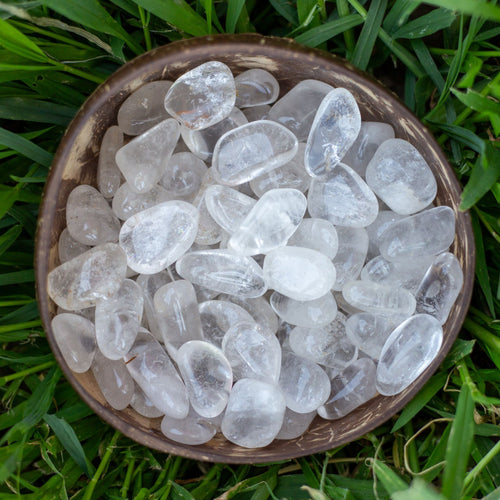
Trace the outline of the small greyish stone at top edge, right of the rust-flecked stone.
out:
M 234 83 L 238 108 L 270 104 L 280 93 L 278 80 L 265 69 L 248 69 L 240 73 L 234 79 Z

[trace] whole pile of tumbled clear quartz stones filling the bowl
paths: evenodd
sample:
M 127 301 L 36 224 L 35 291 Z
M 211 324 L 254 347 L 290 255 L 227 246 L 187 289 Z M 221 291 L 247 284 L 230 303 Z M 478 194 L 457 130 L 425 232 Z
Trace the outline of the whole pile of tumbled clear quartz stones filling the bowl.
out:
M 420 153 L 352 94 L 207 62 L 104 135 L 48 277 L 68 366 L 171 440 L 247 448 L 408 387 L 462 286 Z

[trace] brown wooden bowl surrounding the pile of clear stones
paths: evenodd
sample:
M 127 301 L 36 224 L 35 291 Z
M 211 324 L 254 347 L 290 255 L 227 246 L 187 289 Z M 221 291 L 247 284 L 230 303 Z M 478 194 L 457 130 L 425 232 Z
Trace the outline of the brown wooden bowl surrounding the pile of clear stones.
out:
M 396 396 L 377 396 L 340 420 L 316 418 L 300 438 L 275 440 L 261 449 L 241 448 L 220 435 L 204 445 L 182 445 L 168 440 L 160 432 L 161 419 L 144 418 L 132 409 L 114 410 L 102 396 L 90 371 L 77 374 L 68 368 L 50 326 L 56 307 L 47 295 L 47 274 L 58 265 L 57 242 L 66 226 L 66 200 L 78 184 L 96 184 L 101 140 L 106 129 L 116 124 L 120 104 L 146 82 L 175 80 L 209 60 L 222 61 L 235 73 L 264 68 L 279 80 L 282 95 L 307 78 L 345 87 L 356 97 L 363 120 L 390 123 L 396 137 L 416 146 L 430 165 L 438 183 L 436 203 L 448 205 L 455 211 L 457 237 L 451 250 L 465 275 L 462 292 L 444 326 L 439 355 L 415 383 Z M 471 222 L 467 213 L 458 211 L 459 200 L 458 181 L 429 131 L 391 92 L 347 62 L 292 40 L 259 35 L 218 35 L 174 42 L 137 57 L 110 76 L 87 99 L 61 141 L 45 186 L 36 238 L 36 286 L 43 325 L 58 363 L 82 399 L 106 422 L 145 446 L 196 460 L 226 463 L 271 462 L 325 451 L 359 438 L 401 410 L 437 369 L 457 337 L 470 303 L 474 279 Z

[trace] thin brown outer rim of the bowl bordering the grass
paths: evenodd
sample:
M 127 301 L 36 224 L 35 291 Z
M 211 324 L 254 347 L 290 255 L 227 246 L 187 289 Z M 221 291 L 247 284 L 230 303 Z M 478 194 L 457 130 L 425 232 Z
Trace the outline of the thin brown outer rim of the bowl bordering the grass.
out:
M 151 61 L 158 58 L 168 59 L 171 58 L 175 53 L 187 52 L 187 51 L 197 51 L 203 50 L 207 51 L 207 47 L 217 47 L 218 50 L 228 50 L 229 52 L 234 52 L 236 48 L 244 47 L 272 47 L 276 53 L 286 53 L 293 51 L 294 53 L 306 57 L 308 61 L 316 64 L 325 64 L 332 71 L 343 71 L 351 73 L 354 78 L 359 81 L 366 82 L 366 84 L 373 90 L 381 93 L 389 98 L 396 109 L 395 112 L 400 112 L 402 115 L 410 120 L 416 121 L 419 127 L 422 127 L 422 133 L 426 136 L 430 143 L 430 147 L 433 148 L 440 159 L 440 162 L 446 167 L 447 174 L 449 175 L 449 182 L 451 183 L 451 188 L 456 193 L 460 193 L 461 188 L 458 183 L 457 178 L 453 173 L 453 169 L 450 166 L 444 152 L 438 145 L 437 141 L 433 138 L 429 130 L 420 122 L 420 120 L 410 111 L 399 98 L 387 89 L 383 84 L 375 80 L 372 76 L 360 71 L 359 69 L 352 66 L 349 62 L 325 51 L 318 49 L 312 49 L 304 45 L 298 44 L 294 40 L 280 37 L 269 37 L 262 36 L 258 34 L 241 34 L 241 35 L 231 35 L 231 34 L 221 34 L 221 35 L 211 35 L 205 37 L 195 37 L 186 40 L 179 40 L 171 42 L 167 45 L 157 47 L 151 51 L 145 52 L 131 61 L 127 62 L 121 66 L 115 73 L 113 73 L 105 82 L 100 84 L 96 90 L 88 97 L 83 106 L 77 112 L 71 123 L 69 124 L 66 132 L 58 146 L 57 152 L 54 156 L 51 168 L 49 170 L 47 181 L 44 187 L 44 192 L 42 195 L 42 202 L 40 205 L 40 212 L 37 221 L 37 231 L 35 235 L 35 281 L 36 281 L 36 297 L 40 308 L 40 316 L 42 319 L 43 327 L 47 333 L 47 338 L 50 347 L 54 353 L 54 357 L 58 362 L 59 366 L 62 368 L 66 378 L 69 380 L 70 384 L 79 394 L 79 396 L 85 401 L 85 403 L 103 420 L 108 424 L 113 426 L 115 429 L 122 432 L 127 437 L 133 439 L 134 441 L 153 448 L 162 452 L 173 453 L 185 458 L 191 458 L 202 461 L 209 462 L 224 462 L 224 463 L 264 463 L 276 460 L 285 460 L 296 458 L 300 456 L 311 455 L 313 453 L 323 452 L 328 449 L 340 446 L 342 444 L 354 441 L 360 438 L 367 432 L 379 427 L 385 421 L 392 418 L 397 412 L 399 412 L 420 389 L 427 383 L 431 375 L 436 371 L 439 364 L 442 362 L 446 354 L 448 353 L 451 345 L 458 336 L 460 326 L 462 325 L 467 310 L 470 305 L 472 297 L 472 288 L 474 283 L 474 265 L 475 265 L 475 249 L 474 249 L 474 237 L 472 232 L 472 224 L 470 215 L 468 212 L 456 212 L 457 217 L 463 219 L 465 224 L 465 235 L 461 239 L 461 244 L 465 245 L 464 249 L 464 284 L 461 292 L 462 302 L 461 308 L 457 315 L 453 318 L 454 328 L 452 329 L 452 334 L 448 335 L 445 341 L 443 341 L 443 346 L 440 350 L 438 357 L 433 361 L 433 363 L 424 371 L 423 374 L 414 382 L 407 390 L 404 391 L 404 397 L 402 397 L 394 407 L 391 407 L 390 414 L 382 413 L 376 418 L 371 419 L 369 422 L 363 422 L 357 429 L 347 436 L 332 436 L 328 442 L 320 440 L 318 442 L 313 442 L 311 446 L 303 449 L 295 449 L 292 454 L 290 453 L 266 453 L 266 448 L 260 449 L 244 449 L 241 448 L 241 453 L 236 453 L 234 455 L 228 455 L 227 453 L 222 453 L 217 450 L 204 450 L 200 446 L 188 446 L 180 443 L 175 443 L 168 440 L 166 437 L 164 439 L 156 436 L 152 430 L 148 432 L 147 429 L 139 429 L 130 425 L 130 423 L 123 420 L 116 412 L 112 409 L 102 405 L 97 401 L 80 383 L 78 378 L 75 376 L 71 370 L 67 367 L 61 351 L 59 350 L 57 344 L 54 341 L 53 333 L 51 330 L 51 315 L 49 310 L 50 299 L 47 294 L 47 274 L 49 271 L 49 249 L 51 248 L 51 228 L 55 219 L 56 204 L 59 194 L 59 184 L 58 179 L 61 179 L 61 175 L 64 171 L 64 167 L 69 161 L 69 150 L 71 149 L 71 144 L 75 141 L 76 137 L 85 127 L 85 124 L 89 117 L 99 108 L 99 106 L 104 106 L 106 104 L 106 95 L 110 89 L 115 88 L 120 85 L 121 82 L 130 82 L 131 80 L 144 79 L 144 74 L 146 72 L 148 65 Z M 297 57 L 298 57 L 297 56 Z M 141 81 L 142 81 L 141 80 Z M 145 80 L 147 81 L 147 80 Z M 144 81 L 144 82 L 145 82 Z M 123 87 L 123 85 L 122 85 Z M 458 325 L 458 326 L 457 326 Z M 380 396 L 377 396 L 380 397 Z M 392 399 L 385 397 L 385 399 Z M 119 413 L 119 412 L 118 412 Z M 264 451 L 262 451 L 264 450 Z

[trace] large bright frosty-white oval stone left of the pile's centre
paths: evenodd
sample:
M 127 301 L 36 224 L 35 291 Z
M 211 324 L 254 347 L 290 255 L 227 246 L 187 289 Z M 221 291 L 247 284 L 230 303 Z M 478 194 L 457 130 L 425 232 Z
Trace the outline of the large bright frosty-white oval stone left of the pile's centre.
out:
M 130 268 L 154 274 L 183 255 L 197 231 L 198 210 L 185 201 L 167 201 L 127 219 L 120 231 L 120 246 Z

